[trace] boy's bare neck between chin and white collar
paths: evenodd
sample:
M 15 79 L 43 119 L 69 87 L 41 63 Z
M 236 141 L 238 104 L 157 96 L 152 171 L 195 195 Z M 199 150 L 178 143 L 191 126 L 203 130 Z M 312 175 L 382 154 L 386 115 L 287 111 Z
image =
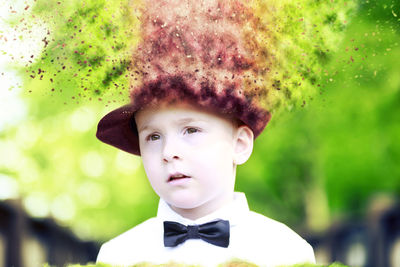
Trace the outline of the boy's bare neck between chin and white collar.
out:
M 170 207 L 173 211 L 175 211 L 182 217 L 194 221 L 217 211 L 218 209 L 222 208 L 225 205 L 228 205 L 232 201 L 233 201 L 233 192 L 221 198 L 210 200 L 210 202 L 212 203 L 207 202 L 203 205 L 200 205 L 192 209 L 183 209 L 183 208 L 173 207 L 171 205 Z

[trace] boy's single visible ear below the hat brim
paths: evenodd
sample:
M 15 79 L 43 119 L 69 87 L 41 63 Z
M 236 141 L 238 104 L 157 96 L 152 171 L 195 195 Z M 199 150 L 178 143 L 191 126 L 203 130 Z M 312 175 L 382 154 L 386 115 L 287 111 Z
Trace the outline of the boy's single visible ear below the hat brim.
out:
M 241 125 L 236 130 L 234 139 L 233 161 L 236 165 L 245 163 L 253 152 L 253 131 L 247 125 Z

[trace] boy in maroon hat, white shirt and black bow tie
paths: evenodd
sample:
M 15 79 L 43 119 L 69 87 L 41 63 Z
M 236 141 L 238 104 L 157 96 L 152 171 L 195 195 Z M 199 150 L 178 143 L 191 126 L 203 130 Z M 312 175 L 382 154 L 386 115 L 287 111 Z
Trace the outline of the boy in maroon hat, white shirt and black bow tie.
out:
M 306 241 L 234 192 L 236 166 L 270 120 L 267 94 L 254 93 L 265 58 L 248 46 L 250 11 L 236 0 L 147 2 L 132 103 L 106 115 L 97 137 L 141 156 L 160 203 L 157 217 L 105 243 L 98 262 L 315 261 Z

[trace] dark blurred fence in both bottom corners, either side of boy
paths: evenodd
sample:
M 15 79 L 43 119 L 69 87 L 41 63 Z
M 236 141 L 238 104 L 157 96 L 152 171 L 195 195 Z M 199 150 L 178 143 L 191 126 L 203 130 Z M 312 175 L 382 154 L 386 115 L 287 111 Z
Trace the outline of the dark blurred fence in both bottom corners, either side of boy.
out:
M 317 263 L 400 267 L 400 205 L 370 212 L 362 220 L 334 224 L 318 235 L 303 236 Z M 0 267 L 38 267 L 95 262 L 99 244 L 79 240 L 50 219 L 27 216 L 19 205 L 0 202 Z

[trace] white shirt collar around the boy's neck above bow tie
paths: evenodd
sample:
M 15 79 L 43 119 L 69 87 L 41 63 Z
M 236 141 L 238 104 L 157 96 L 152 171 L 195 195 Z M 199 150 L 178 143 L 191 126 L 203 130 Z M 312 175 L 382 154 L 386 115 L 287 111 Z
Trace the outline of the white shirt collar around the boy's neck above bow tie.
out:
M 163 199 L 158 204 L 157 218 L 163 221 L 174 221 L 185 225 L 203 224 L 217 219 L 229 220 L 231 226 L 236 225 L 241 219 L 246 218 L 244 213 L 249 212 L 249 205 L 244 193 L 235 192 L 233 201 L 218 210 L 201 217 L 190 220 L 176 213 Z

